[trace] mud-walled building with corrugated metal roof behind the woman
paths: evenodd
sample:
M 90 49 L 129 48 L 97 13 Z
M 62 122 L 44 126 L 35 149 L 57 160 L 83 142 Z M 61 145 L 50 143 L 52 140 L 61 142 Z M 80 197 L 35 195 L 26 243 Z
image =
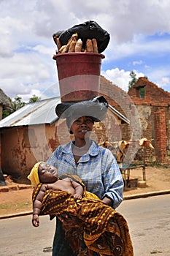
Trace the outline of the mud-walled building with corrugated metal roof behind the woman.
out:
M 28 103 L 0 121 L 1 168 L 4 173 L 26 182 L 26 176 L 36 162 L 46 161 L 58 145 L 72 139 L 66 120 L 58 120 L 55 114 L 59 102 L 61 98 L 54 97 Z M 112 106 L 109 106 L 109 112 L 114 123 L 128 123 L 128 119 Z M 97 142 L 107 138 L 102 126 L 97 136 L 93 135 Z

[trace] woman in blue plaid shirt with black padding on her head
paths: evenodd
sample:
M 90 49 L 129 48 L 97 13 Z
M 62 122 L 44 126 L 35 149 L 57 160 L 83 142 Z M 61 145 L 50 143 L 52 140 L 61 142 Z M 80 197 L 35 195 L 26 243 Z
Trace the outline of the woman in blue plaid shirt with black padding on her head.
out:
M 58 169 L 58 174 L 72 174 L 81 178 L 88 192 L 93 192 L 105 204 L 117 208 L 123 200 L 123 178 L 115 157 L 107 148 L 98 146 L 90 140 L 94 122 L 104 119 L 108 103 L 103 96 L 77 103 L 61 103 L 55 112 L 66 118 L 69 132 L 74 140 L 58 146 L 47 163 Z M 74 218 L 63 218 L 64 226 L 74 223 Z M 53 256 L 99 255 L 88 249 L 83 241 L 83 230 L 65 232 L 62 222 L 57 219 L 53 241 Z M 115 244 L 116 246 L 116 244 Z M 124 255 L 117 246 L 116 254 Z M 131 254 L 133 255 L 133 254 Z

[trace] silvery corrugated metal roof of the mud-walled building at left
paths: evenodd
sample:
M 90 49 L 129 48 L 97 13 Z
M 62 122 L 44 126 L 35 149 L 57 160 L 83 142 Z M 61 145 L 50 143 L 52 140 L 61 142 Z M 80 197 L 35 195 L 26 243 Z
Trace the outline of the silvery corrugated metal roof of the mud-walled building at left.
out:
M 43 99 L 28 103 L 23 108 L 0 121 L 0 127 L 19 127 L 33 124 L 53 124 L 58 119 L 55 107 L 61 102 L 60 97 Z

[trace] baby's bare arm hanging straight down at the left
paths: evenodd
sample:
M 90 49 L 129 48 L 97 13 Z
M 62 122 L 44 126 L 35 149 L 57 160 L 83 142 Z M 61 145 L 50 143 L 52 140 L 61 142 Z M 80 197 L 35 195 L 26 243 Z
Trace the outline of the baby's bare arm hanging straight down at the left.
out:
M 47 189 L 49 189 L 48 185 L 42 184 L 42 187 L 39 189 L 39 193 L 36 196 L 36 200 L 34 201 L 32 217 L 32 225 L 34 225 L 34 227 L 39 227 L 39 214 L 42 208 L 42 200 Z

